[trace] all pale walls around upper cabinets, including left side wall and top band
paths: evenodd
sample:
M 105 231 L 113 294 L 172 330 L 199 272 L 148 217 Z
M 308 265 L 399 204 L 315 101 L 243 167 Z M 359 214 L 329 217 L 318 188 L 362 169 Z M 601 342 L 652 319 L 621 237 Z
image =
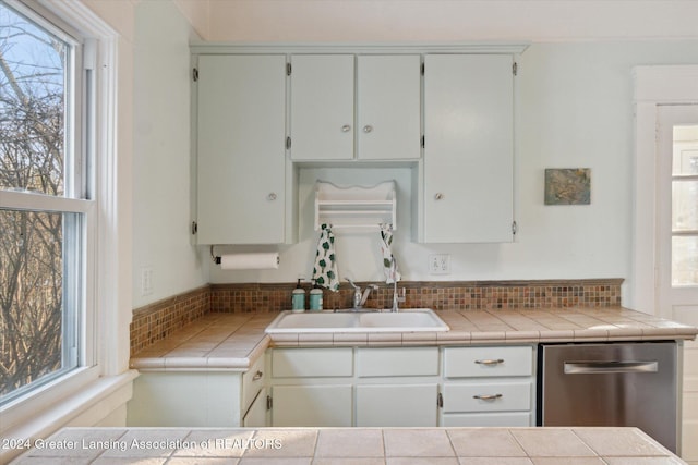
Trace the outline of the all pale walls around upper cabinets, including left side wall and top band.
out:
M 191 21 L 197 23 L 196 30 L 209 40 L 533 40 L 520 58 L 517 78 L 516 242 L 413 243 L 409 170 L 326 173 L 303 169 L 298 244 L 217 250 L 278 249 L 280 269 L 224 272 L 212 266 L 206 259 L 208 250 L 192 248 L 186 232 L 185 107 L 190 83 L 184 72 L 189 65 L 184 47 L 192 29 L 173 5 L 194 19 Z M 310 227 L 308 196 L 317 178 L 357 184 L 398 181 L 395 248 L 406 280 L 629 279 L 634 127 L 630 69 L 637 64 L 697 63 L 698 40 L 688 17 L 695 17 L 698 3 L 643 1 L 635 2 L 633 9 L 627 9 L 627 3 L 610 1 L 561 1 L 555 8 L 551 5 L 533 0 L 137 3 L 134 307 L 207 281 L 289 282 L 299 276 L 308 278 L 317 237 Z M 622 25 L 617 22 L 621 16 Z M 634 39 L 617 39 L 623 37 Z M 681 39 L 685 37 L 691 39 Z M 544 206 L 543 170 L 574 167 L 591 168 L 591 205 Z M 452 255 L 450 274 L 428 273 L 428 256 L 433 253 Z M 338 233 L 338 257 L 342 277 L 381 280 L 377 234 Z M 141 295 L 144 267 L 153 270 L 151 295 Z M 631 305 L 625 298 L 624 303 Z

